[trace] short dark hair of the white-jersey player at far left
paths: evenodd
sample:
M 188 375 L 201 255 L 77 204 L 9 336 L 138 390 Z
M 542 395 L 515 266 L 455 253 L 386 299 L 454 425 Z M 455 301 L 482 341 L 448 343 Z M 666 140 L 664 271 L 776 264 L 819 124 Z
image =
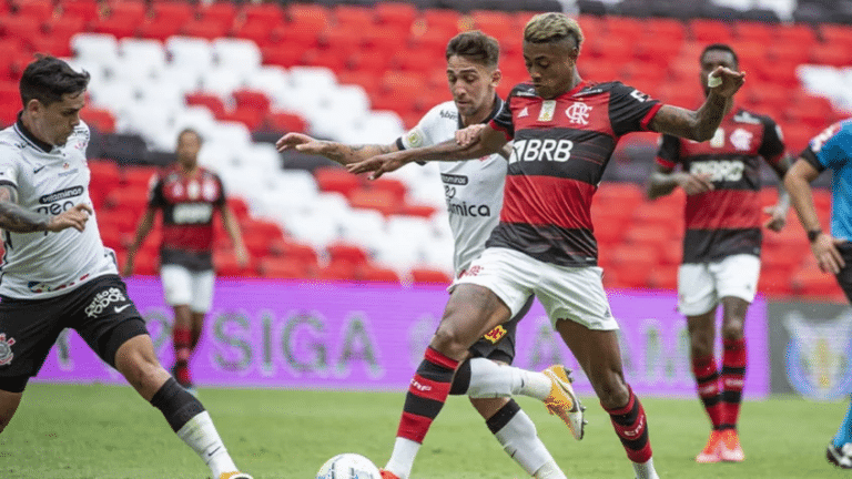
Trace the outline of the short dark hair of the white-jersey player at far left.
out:
M 23 105 L 38 100 L 49 106 L 67 94 L 77 94 L 89 86 L 89 72 L 74 71 L 64 61 L 50 55 L 39 57 L 28 64 L 19 83 Z

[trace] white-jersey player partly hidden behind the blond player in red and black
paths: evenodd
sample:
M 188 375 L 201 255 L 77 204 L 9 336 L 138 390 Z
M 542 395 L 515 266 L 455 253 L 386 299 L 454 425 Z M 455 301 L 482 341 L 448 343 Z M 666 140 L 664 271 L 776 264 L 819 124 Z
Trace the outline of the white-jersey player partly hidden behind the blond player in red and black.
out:
M 287 133 L 278 141 L 278 149 L 320 154 L 346 165 L 382 153 L 452 140 L 460 128 L 490 121 L 503 106 L 503 100 L 496 93 L 500 81 L 497 40 L 479 31 L 459 33 L 449 41 L 446 60 L 453 101 L 433 108 L 396 143 L 349 146 Z M 462 276 L 485 249 L 485 241 L 498 223 L 507 157 L 508 153 L 504 151 L 477 162 L 440 165 L 455 240 L 456 277 Z M 460 214 L 454 204 L 462 203 L 478 205 L 477 214 Z M 495 327 L 474 344 L 471 359 L 459 367 L 449 394 L 470 397 L 488 429 L 527 473 L 535 478 L 565 478 L 538 438 L 536 426 L 508 396 L 523 394 L 545 400 L 550 414 L 559 415 L 579 439 L 582 437 L 582 410 L 568 375 L 561 366 L 551 366 L 544 374 L 500 366 L 514 360 L 516 327 L 531 304 L 532 297 L 508 323 Z

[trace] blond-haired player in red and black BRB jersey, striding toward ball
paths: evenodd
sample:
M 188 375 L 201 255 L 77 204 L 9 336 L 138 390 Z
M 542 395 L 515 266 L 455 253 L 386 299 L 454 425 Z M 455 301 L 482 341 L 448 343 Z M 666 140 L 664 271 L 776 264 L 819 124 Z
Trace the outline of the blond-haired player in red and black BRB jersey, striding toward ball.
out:
M 446 400 L 445 384 L 467 348 L 506 323 L 531 295 L 582 366 L 639 479 L 656 479 L 647 418 L 623 378 L 618 323 L 597 266 L 591 198 L 618 140 L 657 131 L 709 140 L 743 74 L 712 72 L 718 84 L 697 111 L 662 105 L 620 82 L 588 83 L 577 72 L 579 24 L 561 13 L 534 17 L 524 29 L 531 83 L 515 86 L 503 110 L 471 143 L 389 153 L 349 165 L 373 177 L 413 161 L 458 161 L 499 152 L 514 140 L 500 223 L 485 252 L 454 284 L 440 326 L 412 381 L 385 478 L 407 479 L 417 447 Z M 415 445 L 415 446 L 412 446 Z

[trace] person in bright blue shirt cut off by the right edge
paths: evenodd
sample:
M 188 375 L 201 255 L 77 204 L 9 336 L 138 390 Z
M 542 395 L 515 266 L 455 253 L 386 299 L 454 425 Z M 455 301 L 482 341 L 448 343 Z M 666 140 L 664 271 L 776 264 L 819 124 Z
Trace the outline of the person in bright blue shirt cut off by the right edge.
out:
M 822 231 L 811 190 L 811 183 L 825 170 L 834 174 L 829 233 Z M 811 140 L 787 173 L 784 186 L 820 269 L 833 274 L 852 302 L 852 120 L 835 123 Z M 825 456 L 833 465 L 852 469 L 852 402 Z

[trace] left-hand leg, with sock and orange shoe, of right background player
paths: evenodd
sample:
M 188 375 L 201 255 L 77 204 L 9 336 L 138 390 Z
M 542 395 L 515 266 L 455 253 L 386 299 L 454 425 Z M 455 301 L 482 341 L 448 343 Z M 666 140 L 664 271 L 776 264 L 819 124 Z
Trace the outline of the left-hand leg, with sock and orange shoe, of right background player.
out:
M 722 460 L 722 396 L 719 387 L 719 365 L 714 356 L 716 308 L 701 315 L 688 316 L 687 328 L 698 397 L 711 425 L 710 437 L 701 452 L 696 456 L 696 462 L 719 462 Z

